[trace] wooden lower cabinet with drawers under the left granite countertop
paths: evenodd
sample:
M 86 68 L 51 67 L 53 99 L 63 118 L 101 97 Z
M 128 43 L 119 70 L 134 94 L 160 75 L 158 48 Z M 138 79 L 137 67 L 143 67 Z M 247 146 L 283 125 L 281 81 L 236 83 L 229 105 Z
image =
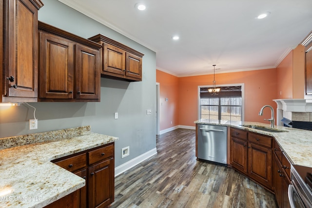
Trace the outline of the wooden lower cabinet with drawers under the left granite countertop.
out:
M 113 142 L 51 161 L 86 180 L 86 185 L 76 191 L 78 200 L 73 201 L 75 208 L 106 208 L 114 202 L 114 155 Z M 66 202 L 68 200 L 70 199 Z M 49 205 L 49 208 L 60 207 L 64 206 L 59 206 L 57 202 Z

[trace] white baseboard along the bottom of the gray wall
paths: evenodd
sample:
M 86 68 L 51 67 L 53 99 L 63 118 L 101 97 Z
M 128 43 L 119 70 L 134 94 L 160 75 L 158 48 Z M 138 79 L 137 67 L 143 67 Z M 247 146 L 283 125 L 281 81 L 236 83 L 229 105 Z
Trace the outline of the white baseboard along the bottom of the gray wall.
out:
M 116 167 L 115 168 L 115 177 L 117 175 L 120 175 L 124 171 L 131 169 L 132 167 L 136 166 L 137 164 L 143 162 L 144 160 L 148 159 L 149 157 L 151 157 L 155 154 L 157 154 L 156 148 L 154 148 L 150 151 L 147 151 L 144 154 L 141 154 L 141 155 L 137 156 L 136 158 L 133 158 L 132 160 Z

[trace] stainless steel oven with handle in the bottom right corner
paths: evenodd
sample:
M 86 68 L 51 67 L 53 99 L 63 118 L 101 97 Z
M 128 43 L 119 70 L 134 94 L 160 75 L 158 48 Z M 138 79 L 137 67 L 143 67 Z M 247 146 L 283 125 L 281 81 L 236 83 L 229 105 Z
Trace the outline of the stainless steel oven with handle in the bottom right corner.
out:
M 312 168 L 291 165 L 288 198 L 291 208 L 312 208 Z

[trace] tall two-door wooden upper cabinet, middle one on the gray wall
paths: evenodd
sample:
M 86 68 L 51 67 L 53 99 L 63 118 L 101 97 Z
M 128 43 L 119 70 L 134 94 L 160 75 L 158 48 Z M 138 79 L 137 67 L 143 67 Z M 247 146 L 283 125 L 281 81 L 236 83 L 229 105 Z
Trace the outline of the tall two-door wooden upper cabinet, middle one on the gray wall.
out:
M 39 101 L 99 101 L 100 48 L 39 22 Z

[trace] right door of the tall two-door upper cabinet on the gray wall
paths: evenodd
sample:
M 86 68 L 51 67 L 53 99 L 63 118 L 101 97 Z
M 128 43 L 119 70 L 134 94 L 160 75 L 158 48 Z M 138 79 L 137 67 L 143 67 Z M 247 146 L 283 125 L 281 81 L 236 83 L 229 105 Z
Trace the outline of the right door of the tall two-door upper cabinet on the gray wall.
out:
M 100 54 L 98 50 L 76 44 L 75 84 L 77 99 L 99 99 Z

